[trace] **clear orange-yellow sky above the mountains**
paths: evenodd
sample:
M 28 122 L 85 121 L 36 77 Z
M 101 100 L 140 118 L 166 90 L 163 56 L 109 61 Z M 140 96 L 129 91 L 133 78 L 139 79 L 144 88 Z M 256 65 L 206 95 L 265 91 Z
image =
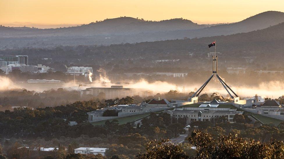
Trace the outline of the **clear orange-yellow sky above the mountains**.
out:
M 0 0 L 0 24 L 39 28 L 88 24 L 120 16 L 232 23 L 255 14 L 284 12 L 283 0 Z

